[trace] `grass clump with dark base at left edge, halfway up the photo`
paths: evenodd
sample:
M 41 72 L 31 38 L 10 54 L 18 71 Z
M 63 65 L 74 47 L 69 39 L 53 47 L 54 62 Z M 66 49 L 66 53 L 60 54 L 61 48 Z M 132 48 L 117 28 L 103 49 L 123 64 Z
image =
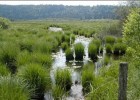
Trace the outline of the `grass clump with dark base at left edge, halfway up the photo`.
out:
M 19 53 L 18 45 L 5 43 L 0 50 L 0 61 L 10 69 L 12 73 L 16 72 L 16 57 Z

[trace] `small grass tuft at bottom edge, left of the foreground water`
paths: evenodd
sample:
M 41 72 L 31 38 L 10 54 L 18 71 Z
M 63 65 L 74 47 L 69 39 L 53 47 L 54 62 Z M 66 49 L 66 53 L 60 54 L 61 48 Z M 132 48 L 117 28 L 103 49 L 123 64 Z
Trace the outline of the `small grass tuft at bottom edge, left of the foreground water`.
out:
M 52 88 L 52 95 L 54 100 L 62 100 L 64 95 L 64 90 L 59 85 L 56 85 Z

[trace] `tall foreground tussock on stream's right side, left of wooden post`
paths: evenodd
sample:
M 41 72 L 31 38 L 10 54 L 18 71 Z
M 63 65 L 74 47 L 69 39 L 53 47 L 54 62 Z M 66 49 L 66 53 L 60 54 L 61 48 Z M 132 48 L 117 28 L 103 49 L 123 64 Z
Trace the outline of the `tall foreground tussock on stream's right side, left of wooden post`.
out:
M 82 86 L 84 93 L 91 91 L 91 85 L 94 78 L 93 65 L 85 65 L 84 69 L 82 70 Z

